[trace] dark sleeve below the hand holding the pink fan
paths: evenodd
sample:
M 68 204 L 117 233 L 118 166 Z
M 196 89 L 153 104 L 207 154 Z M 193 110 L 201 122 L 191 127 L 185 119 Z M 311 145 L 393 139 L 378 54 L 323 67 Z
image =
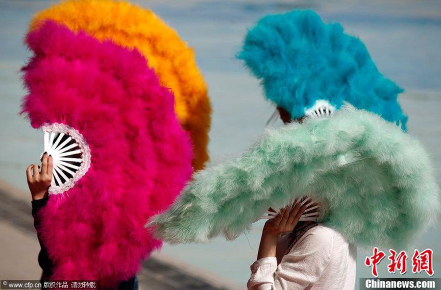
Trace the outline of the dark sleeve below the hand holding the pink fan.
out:
M 45 245 L 41 242 L 41 217 L 39 215 L 40 211 L 44 208 L 44 206 L 48 203 L 49 196 L 39 200 L 32 200 L 32 217 L 34 217 L 34 227 L 37 231 L 38 242 L 40 242 L 40 253 L 38 254 L 38 264 L 43 269 L 43 277 L 50 277 L 52 274 L 52 261 L 49 259 L 48 250 Z M 46 280 L 46 279 L 45 279 Z

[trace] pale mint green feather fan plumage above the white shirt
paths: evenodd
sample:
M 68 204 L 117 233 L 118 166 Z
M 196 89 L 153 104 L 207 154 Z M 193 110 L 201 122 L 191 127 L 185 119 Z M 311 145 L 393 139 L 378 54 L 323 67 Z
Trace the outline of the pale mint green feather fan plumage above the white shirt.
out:
M 423 146 L 395 124 L 346 105 L 330 118 L 268 130 L 237 159 L 197 172 L 147 227 L 171 243 L 234 239 L 269 207 L 304 195 L 324 206 L 321 223 L 359 246 L 406 247 L 439 212 Z

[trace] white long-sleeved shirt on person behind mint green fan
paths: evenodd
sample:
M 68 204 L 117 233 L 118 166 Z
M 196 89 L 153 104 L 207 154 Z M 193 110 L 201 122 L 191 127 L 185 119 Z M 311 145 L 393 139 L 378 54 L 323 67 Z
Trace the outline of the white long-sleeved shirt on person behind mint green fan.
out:
M 356 247 L 340 233 L 315 226 L 285 254 L 287 242 L 286 238 L 278 241 L 279 263 L 275 257 L 266 257 L 251 265 L 248 290 L 355 289 Z

